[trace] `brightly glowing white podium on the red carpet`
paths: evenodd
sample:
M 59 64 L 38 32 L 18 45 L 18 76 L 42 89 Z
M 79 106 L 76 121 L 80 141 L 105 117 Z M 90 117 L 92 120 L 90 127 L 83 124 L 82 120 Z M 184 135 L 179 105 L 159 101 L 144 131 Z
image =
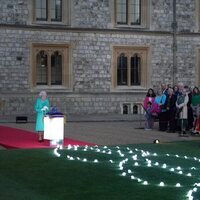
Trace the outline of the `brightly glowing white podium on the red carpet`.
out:
M 63 145 L 64 115 L 47 115 L 44 117 L 44 139 L 50 140 L 51 146 Z

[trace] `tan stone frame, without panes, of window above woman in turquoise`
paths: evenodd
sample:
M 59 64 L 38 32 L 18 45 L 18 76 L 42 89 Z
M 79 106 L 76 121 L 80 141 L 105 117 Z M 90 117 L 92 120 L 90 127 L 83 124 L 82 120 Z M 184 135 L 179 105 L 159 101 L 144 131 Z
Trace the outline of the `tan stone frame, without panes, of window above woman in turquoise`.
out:
M 69 44 L 32 44 L 31 50 L 31 85 L 32 88 L 46 89 L 71 89 L 71 64 L 70 64 L 70 45 Z M 37 85 L 37 54 L 40 51 L 47 52 L 47 85 Z M 62 52 L 62 84 L 54 85 L 51 83 L 51 56 L 56 52 Z

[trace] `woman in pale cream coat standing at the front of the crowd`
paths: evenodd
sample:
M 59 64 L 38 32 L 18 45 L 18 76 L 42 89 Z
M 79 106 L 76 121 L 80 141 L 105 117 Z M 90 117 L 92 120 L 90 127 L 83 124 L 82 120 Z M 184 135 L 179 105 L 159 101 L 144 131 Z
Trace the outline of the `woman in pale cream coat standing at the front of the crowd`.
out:
M 187 127 L 187 117 L 188 117 L 188 109 L 187 103 L 189 101 L 189 97 L 186 89 L 182 90 L 182 94 L 177 97 L 176 108 L 179 113 L 178 125 L 181 128 L 180 136 L 187 136 L 186 127 Z

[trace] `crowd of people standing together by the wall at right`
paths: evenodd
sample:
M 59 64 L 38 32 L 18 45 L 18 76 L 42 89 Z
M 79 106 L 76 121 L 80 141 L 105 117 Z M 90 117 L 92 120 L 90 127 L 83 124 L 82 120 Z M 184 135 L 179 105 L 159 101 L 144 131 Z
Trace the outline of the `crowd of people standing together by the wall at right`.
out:
M 200 90 L 161 84 L 156 92 L 149 88 L 144 99 L 145 130 L 151 130 L 158 119 L 159 130 L 178 132 L 180 136 L 200 133 Z

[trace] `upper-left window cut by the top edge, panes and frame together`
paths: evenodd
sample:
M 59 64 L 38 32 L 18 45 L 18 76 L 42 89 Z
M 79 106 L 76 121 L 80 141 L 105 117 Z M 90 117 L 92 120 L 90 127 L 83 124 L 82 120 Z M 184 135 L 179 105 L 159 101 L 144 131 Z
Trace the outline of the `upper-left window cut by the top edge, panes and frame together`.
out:
M 34 22 L 69 24 L 69 0 L 34 0 Z

